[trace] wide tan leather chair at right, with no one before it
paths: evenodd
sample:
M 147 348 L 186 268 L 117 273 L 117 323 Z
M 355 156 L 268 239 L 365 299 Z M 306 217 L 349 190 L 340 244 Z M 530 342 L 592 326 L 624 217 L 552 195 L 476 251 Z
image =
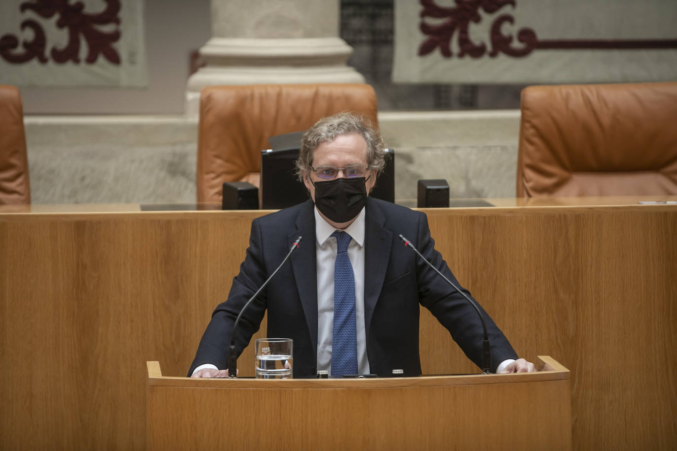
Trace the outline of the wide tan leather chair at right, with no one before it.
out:
M 677 82 L 522 91 L 517 195 L 676 195 Z

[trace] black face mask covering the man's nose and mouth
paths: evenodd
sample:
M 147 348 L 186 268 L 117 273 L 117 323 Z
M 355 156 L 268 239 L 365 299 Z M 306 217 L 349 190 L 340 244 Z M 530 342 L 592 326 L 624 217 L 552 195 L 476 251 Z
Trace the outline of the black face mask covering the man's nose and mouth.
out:
M 344 177 L 314 182 L 315 206 L 334 222 L 348 222 L 359 214 L 367 203 L 366 179 Z

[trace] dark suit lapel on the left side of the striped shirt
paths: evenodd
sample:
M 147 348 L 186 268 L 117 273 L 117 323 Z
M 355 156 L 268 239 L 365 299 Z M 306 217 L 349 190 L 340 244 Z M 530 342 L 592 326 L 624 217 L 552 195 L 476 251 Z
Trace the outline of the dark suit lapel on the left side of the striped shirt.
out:
M 318 272 L 317 254 L 315 249 L 315 214 L 312 200 L 305 203 L 301 214 L 297 218 L 297 230 L 287 237 L 288 245 L 301 235 L 303 241 L 299 249 L 291 256 L 294 279 L 299 289 L 301 305 L 308 323 L 308 331 L 313 341 L 313 348 L 318 348 Z

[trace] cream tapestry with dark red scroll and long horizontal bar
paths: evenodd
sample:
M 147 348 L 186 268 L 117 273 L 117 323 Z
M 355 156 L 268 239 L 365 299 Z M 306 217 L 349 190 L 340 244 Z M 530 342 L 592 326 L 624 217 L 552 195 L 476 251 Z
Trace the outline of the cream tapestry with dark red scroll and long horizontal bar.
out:
M 395 0 L 395 82 L 677 79 L 677 1 Z

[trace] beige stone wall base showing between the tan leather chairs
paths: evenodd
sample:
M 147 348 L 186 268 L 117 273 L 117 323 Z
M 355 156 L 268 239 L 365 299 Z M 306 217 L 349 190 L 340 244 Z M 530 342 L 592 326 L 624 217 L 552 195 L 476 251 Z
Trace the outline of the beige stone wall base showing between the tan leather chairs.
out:
M 452 197 L 512 197 L 519 111 L 385 112 L 395 199 L 418 179 L 447 179 Z M 184 116 L 28 116 L 35 204 L 195 200 L 197 120 Z

